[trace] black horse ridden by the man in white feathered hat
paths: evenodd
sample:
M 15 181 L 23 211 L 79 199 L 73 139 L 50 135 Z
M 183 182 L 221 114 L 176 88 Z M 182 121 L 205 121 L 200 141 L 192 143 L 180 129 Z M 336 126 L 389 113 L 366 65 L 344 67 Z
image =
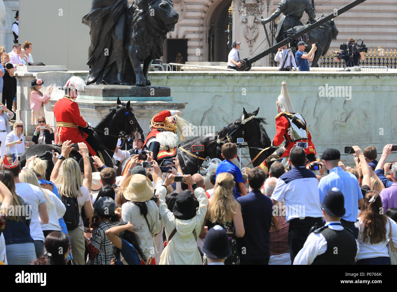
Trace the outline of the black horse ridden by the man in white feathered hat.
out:
M 93 129 L 81 129 L 89 132 L 86 141 L 96 151 L 96 155 L 109 167 L 113 167 L 112 157 L 118 138 L 133 135 L 135 132 L 143 132 L 132 112 L 130 101 L 121 102 L 120 99 L 117 99 L 117 105 L 109 110 L 98 126 Z M 54 168 L 52 150 L 61 153 L 61 147 L 57 145 L 35 144 L 29 147 L 21 155 L 21 166 L 25 166 L 27 158 L 37 155 L 48 162 L 46 178 L 50 178 L 52 168 Z M 69 157 L 73 157 L 77 161 L 81 159 L 81 155 L 75 150 L 70 153 Z

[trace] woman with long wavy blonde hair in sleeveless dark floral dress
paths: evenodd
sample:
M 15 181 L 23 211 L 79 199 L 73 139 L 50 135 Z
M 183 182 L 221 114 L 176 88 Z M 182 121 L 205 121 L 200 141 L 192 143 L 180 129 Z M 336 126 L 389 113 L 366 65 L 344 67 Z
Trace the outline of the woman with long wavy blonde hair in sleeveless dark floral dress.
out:
M 235 186 L 233 175 L 222 172 L 216 176 L 215 190 L 208 203 L 206 215 L 208 230 L 215 225 L 220 225 L 227 233 L 231 255 L 226 258 L 225 265 L 239 265 L 239 251 L 236 237 L 245 234 L 241 207 L 233 196 Z M 203 258 L 206 264 L 206 257 Z

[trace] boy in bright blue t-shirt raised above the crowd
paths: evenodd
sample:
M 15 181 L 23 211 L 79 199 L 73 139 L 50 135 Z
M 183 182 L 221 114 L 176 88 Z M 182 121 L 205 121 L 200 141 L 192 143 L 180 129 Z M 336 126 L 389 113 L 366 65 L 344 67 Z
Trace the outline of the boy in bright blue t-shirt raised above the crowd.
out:
M 222 172 L 229 172 L 234 176 L 235 186 L 233 189 L 233 195 L 237 199 L 241 195 L 247 195 L 247 189 L 244 186 L 243 176 L 241 175 L 240 168 L 235 166 L 233 163 L 234 159 L 237 157 L 237 146 L 234 143 L 225 143 L 222 145 L 222 157 L 224 161 L 218 164 L 216 168 L 216 175 Z

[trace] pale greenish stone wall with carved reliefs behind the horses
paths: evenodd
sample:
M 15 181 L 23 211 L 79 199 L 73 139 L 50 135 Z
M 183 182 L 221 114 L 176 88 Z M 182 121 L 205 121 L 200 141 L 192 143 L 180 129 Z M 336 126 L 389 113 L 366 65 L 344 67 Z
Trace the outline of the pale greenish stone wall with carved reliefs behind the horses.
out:
M 381 153 L 387 143 L 397 144 L 395 116 L 397 73 L 372 72 L 150 72 L 152 85 L 171 88 L 173 101 L 188 102 L 183 117 L 195 125 L 220 129 L 260 107 L 267 118 L 269 137 L 275 134 L 276 99 L 287 81 L 296 112 L 303 114 L 318 153 L 328 147 L 375 145 Z M 327 85 L 328 84 L 328 85 Z M 324 86 L 324 97 L 319 97 Z M 343 97 L 332 97 L 333 86 L 347 86 Z M 351 86 L 351 87 L 349 87 Z M 338 88 L 337 88 L 338 89 Z M 323 92 L 322 91 L 322 92 Z M 336 95 L 341 95 L 337 92 Z M 351 94 L 350 94 L 351 93 Z M 380 155 L 378 156 L 378 158 Z M 343 158 L 349 163 L 351 156 Z M 393 159 L 397 159 L 395 156 Z

